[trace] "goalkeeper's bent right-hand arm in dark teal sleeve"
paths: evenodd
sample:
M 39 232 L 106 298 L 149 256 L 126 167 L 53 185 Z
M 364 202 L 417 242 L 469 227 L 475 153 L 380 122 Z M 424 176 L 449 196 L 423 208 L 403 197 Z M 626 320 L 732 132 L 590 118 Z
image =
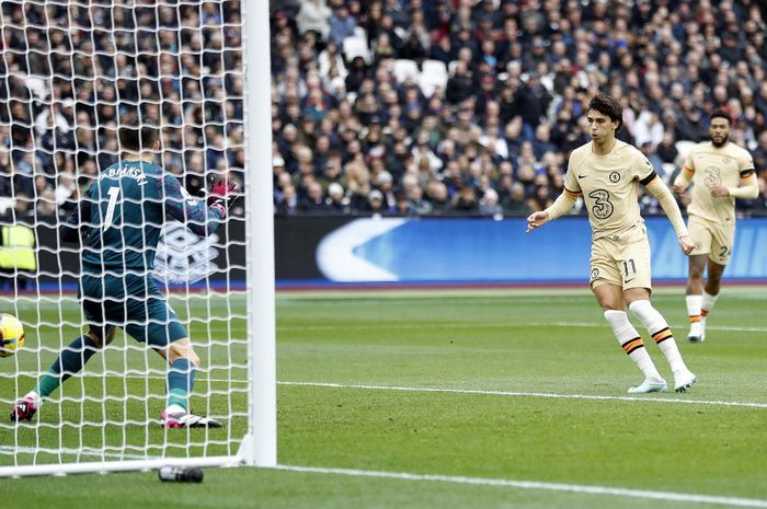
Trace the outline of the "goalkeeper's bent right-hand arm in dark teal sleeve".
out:
M 173 175 L 164 176 L 163 188 L 165 212 L 183 222 L 197 235 L 209 235 L 227 216 L 225 204 L 214 201 L 208 207 L 204 199 L 193 198 Z M 226 195 L 221 198 L 226 199 Z

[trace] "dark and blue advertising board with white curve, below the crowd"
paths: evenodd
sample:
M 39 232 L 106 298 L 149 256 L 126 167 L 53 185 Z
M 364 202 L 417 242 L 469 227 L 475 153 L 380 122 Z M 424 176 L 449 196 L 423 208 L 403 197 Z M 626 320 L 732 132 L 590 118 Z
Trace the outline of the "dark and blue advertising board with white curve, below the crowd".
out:
M 687 262 L 668 221 L 649 218 L 646 224 L 654 278 L 685 278 Z M 73 288 L 79 273 L 77 247 L 59 244 L 55 224 L 37 224 L 36 233 L 41 288 Z M 238 219 L 207 239 L 180 223 L 169 223 L 158 246 L 156 278 L 171 287 L 242 289 L 247 241 L 244 223 Z M 584 282 L 589 247 L 588 222 L 575 217 L 534 234 L 525 234 L 520 218 L 275 218 L 276 278 L 287 285 Z M 767 219 L 739 221 L 725 276 L 752 281 L 767 278 Z

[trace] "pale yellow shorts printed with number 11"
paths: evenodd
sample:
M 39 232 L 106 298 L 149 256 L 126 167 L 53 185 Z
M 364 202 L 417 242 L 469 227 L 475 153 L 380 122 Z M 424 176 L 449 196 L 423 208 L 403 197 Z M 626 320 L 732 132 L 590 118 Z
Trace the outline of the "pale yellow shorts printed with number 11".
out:
M 616 285 L 623 290 L 652 290 L 650 243 L 644 224 L 618 235 L 597 239 L 592 244 L 592 289 L 600 285 Z

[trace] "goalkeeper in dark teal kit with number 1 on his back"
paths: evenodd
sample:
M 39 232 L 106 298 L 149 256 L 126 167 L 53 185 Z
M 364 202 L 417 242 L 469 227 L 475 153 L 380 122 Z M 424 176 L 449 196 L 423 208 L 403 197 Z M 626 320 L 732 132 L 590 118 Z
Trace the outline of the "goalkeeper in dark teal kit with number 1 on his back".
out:
M 170 366 L 168 405 L 161 414 L 164 428 L 221 426 L 190 412 L 188 395 L 199 358 L 151 273 L 165 218 L 208 235 L 226 219 L 234 184 L 215 181 L 207 203 L 193 198 L 173 175 L 153 164 L 160 149 L 158 137 L 158 128 L 138 116 L 121 126 L 122 160 L 101 172 L 61 227 L 62 241 L 82 243 L 79 298 L 89 331 L 64 348 L 37 385 L 15 403 L 12 421 L 31 420 L 43 401 L 122 327 Z

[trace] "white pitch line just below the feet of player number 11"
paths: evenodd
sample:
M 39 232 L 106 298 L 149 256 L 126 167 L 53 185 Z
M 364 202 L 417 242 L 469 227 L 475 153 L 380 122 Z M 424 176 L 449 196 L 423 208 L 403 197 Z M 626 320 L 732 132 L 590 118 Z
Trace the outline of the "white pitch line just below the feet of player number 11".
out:
M 549 392 L 512 392 L 512 391 L 488 391 L 481 389 L 440 389 L 440 387 L 404 387 L 397 385 L 364 385 L 344 384 L 330 382 L 277 382 L 278 385 L 298 385 L 310 387 L 332 387 L 332 389 L 360 389 L 368 391 L 399 391 L 399 392 L 424 392 L 445 394 L 477 394 L 488 396 L 510 396 L 510 397 L 547 397 L 552 400 L 596 400 L 596 401 L 622 401 L 622 402 L 644 402 L 644 403 L 678 403 L 686 405 L 711 405 L 711 406 L 734 406 L 744 408 L 767 408 L 767 403 L 748 402 L 726 402 L 716 400 L 676 400 L 673 397 L 638 397 L 638 396 L 603 396 L 597 394 L 559 394 Z

